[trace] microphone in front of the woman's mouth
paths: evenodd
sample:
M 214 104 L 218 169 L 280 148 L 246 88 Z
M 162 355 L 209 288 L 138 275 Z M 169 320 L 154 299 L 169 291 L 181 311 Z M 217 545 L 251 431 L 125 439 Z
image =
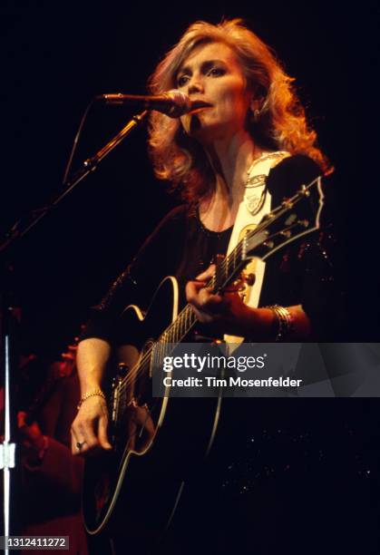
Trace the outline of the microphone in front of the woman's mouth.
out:
M 193 108 L 189 96 L 177 89 L 153 96 L 122 93 L 100 94 L 95 96 L 95 99 L 115 105 L 134 104 L 139 106 L 142 104 L 147 110 L 156 110 L 171 118 L 179 118 Z

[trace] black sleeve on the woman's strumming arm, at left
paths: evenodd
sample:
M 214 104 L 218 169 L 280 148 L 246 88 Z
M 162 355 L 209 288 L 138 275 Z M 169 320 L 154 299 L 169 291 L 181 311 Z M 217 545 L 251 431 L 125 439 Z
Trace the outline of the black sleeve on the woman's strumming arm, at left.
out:
M 112 343 L 119 316 L 130 304 L 148 307 L 161 279 L 178 264 L 186 226 L 186 207 L 180 206 L 161 220 L 137 256 L 112 283 L 99 305 L 91 308 L 81 340 L 98 337 Z

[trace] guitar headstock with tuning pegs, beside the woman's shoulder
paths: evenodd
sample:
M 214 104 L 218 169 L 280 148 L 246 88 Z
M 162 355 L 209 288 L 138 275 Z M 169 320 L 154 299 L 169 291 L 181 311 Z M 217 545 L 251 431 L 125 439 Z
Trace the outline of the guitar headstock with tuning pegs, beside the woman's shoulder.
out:
M 265 216 L 242 241 L 242 258 L 265 260 L 279 248 L 319 229 L 324 206 L 322 178 L 302 185 L 290 199 Z

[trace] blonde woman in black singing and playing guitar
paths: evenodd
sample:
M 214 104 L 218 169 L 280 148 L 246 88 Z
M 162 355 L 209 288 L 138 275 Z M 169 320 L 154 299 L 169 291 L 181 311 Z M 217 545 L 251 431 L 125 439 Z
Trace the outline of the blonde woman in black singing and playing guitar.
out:
M 207 287 L 241 212 L 258 223 L 328 170 L 292 82 L 238 19 L 191 24 L 152 74 L 151 94 L 179 89 L 192 102 L 179 119 L 152 112 L 149 128 L 156 176 L 169 180 L 184 203 L 161 221 L 93 308 L 78 347 L 82 402 L 73 421 L 73 453 L 112 448 L 102 377 L 118 342 L 118 316 L 130 304 L 147 308 L 163 277 L 177 278 L 181 302 L 190 303 L 204 335 L 258 342 L 329 337 L 331 270 L 320 237 L 279 251 L 265 271 L 257 268 L 250 291 L 256 300 Z

